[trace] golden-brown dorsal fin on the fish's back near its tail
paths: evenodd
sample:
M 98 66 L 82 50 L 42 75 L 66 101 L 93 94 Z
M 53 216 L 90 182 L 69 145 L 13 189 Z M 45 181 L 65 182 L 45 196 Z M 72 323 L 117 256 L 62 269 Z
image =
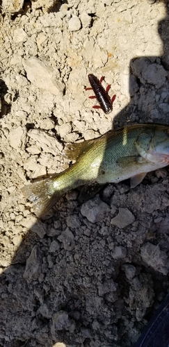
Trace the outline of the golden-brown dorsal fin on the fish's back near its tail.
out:
M 74 142 L 74 144 L 67 144 L 63 153 L 70 160 L 77 160 L 81 154 L 95 141 L 95 139 L 88 139 L 83 142 Z

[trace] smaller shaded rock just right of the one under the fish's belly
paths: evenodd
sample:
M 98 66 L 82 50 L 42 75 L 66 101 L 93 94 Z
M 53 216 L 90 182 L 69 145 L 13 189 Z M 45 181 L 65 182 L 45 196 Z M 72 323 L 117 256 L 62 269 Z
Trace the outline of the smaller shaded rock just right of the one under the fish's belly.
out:
M 132 214 L 128 210 L 128 208 L 119 208 L 117 216 L 111 219 L 111 224 L 113 224 L 113 226 L 118 226 L 118 228 L 122 229 L 126 226 L 129 226 L 129 224 L 134 223 L 134 221 L 134 214 Z

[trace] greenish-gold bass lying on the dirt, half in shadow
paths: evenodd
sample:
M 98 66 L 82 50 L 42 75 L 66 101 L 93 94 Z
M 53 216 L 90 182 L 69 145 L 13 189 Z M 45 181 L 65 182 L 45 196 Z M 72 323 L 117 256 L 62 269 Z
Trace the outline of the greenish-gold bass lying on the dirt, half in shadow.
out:
M 131 178 L 136 187 L 147 172 L 169 164 L 169 126 L 134 124 L 65 150 L 76 162 L 61 172 L 31 183 L 22 192 L 40 217 L 71 189 L 81 185 L 118 183 Z

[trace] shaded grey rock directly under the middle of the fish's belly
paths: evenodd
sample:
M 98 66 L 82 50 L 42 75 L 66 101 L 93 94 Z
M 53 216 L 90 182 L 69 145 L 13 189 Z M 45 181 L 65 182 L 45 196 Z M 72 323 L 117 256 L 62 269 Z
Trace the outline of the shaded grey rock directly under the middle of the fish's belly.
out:
M 81 206 L 81 214 L 91 223 L 102 221 L 106 212 L 110 212 L 110 208 L 99 196 L 92 198 Z

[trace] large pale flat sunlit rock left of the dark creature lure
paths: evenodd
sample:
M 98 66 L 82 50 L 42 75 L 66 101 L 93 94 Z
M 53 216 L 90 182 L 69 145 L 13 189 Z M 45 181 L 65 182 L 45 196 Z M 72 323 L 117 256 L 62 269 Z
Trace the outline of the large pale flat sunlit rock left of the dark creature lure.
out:
M 54 80 L 54 71 L 38 58 L 23 60 L 24 69 L 29 81 L 35 87 L 47 90 L 56 96 L 63 94 L 64 84 Z

